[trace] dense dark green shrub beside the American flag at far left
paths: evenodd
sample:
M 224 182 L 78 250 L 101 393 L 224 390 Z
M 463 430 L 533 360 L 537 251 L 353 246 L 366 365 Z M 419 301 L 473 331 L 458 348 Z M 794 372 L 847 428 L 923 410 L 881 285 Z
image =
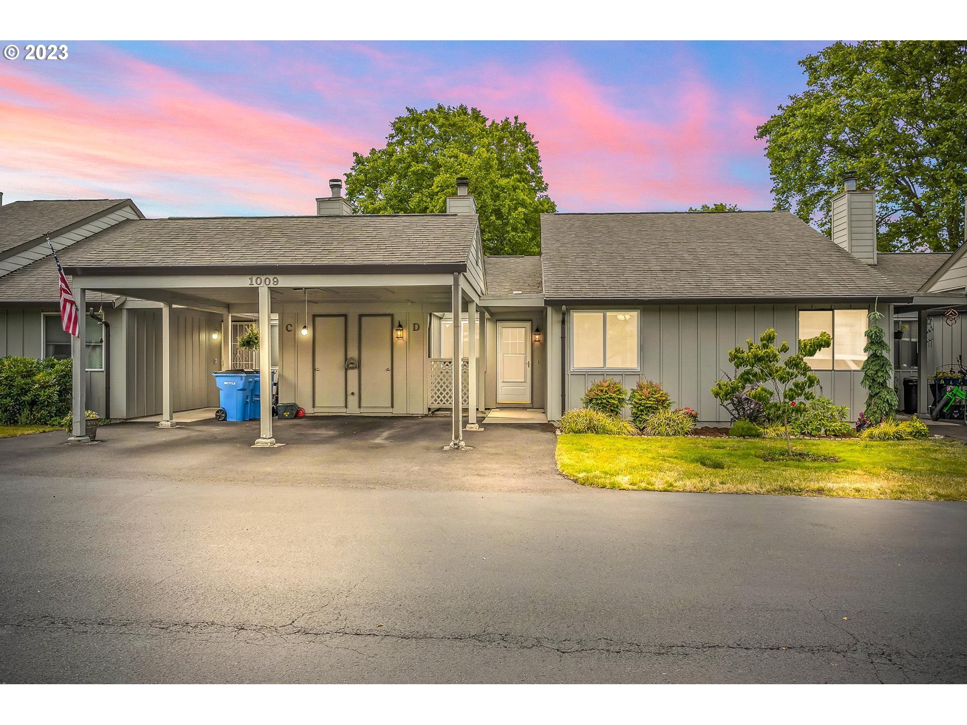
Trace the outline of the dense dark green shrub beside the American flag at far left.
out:
M 0 425 L 57 425 L 72 386 L 70 360 L 0 358 Z

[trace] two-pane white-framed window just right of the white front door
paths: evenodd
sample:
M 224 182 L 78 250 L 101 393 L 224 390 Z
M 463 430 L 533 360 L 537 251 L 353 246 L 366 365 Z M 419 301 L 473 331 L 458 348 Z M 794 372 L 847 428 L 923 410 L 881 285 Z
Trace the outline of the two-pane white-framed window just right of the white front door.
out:
M 637 370 L 637 310 L 571 311 L 571 369 Z

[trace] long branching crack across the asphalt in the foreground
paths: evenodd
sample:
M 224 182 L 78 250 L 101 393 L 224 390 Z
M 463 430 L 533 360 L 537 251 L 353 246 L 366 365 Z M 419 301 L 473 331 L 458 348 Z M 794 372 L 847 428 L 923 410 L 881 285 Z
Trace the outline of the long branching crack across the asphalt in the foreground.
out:
M 869 661 L 874 676 L 883 682 L 879 666 L 873 657 L 893 665 L 904 673 L 916 673 L 931 679 L 944 676 L 949 681 L 963 681 L 967 677 L 967 652 L 910 652 L 906 650 L 890 650 L 875 643 L 864 642 L 849 630 L 834 623 L 824 613 L 827 623 L 849 635 L 851 642 L 840 645 L 767 645 L 744 643 L 716 643 L 716 642 L 681 642 L 675 644 L 642 643 L 617 640 L 609 637 L 595 637 L 588 639 L 552 639 L 550 637 L 524 636 L 511 633 L 480 631 L 467 634 L 447 634 L 432 632 L 407 631 L 366 631 L 344 625 L 328 628 L 313 628 L 299 626 L 296 623 L 313 614 L 324 611 L 332 604 L 327 602 L 322 607 L 300 614 L 292 621 L 284 624 L 251 624 L 251 623 L 219 623 L 211 621 L 176 622 L 152 620 L 139 622 L 113 618 L 73 619 L 55 616 L 26 617 L 22 619 L 0 620 L 0 628 L 25 628 L 45 631 L 66 631 L 76 634 L 124 634 L 132 636 L 165 636 L 171 634 L 201 635 L 206 641 L 217 641 L 219 638 L 238 640 L 244 638 L 249 644 L 260 641 L 278 639 L 284 643 L 304 642 L 307 644 L 323 644 L 334 649 L 356 652 L 361 656 L 373 657 L 353 647 L 345 647 L 341 638 L 366 638 L 371 641 L 405 640 L 421 642 L 465 642 L 484 647 L 511 647 L 519 650 L 546 650 L 559 655 L 579 653 L 601 654 L 631 654 L 631 655 L 671 655 L 688 656 L 698 652 L 805 652 L 825 653 L 840 656 L 859 655 Z M 815 607 L 810 601 L 810 606 Z M 822 612 L 822 610 L 818 610 Z M 339 619 L 337 616 L 335 619 Z M 911 668 L 903 664 L 900 659 L 908 658 L 915 661 L 930 661 L 935 667 L 929 671 Z M 904 677 L 906 675 L 904 674 Z M 909 678 L 907 678 L 909 681 Z

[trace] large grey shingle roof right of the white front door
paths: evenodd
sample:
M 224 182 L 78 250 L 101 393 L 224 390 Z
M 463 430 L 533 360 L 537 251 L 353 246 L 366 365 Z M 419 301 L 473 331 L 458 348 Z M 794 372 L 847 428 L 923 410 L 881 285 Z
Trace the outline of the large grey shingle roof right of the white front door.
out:
M 900 294 L 787 212 L 541 217 L 548 299 L 772 299 Z

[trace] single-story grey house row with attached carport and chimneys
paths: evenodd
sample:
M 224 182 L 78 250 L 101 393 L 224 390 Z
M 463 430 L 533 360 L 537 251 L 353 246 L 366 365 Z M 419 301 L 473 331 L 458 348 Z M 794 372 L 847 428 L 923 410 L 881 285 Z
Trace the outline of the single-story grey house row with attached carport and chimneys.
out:
M 263 390 L 275 371 L 279 401 L 308 415 L 451 411 L 454 447 L 494 408 L 559 420 L 604 377 L 655 380 L 701 421 L 727 421 L 711 389 L 732 372 L 728 351 L 771 327 L 833 335 L 811 364 L 855 417 L 874 304 L 901 333 L 898 380 L 918 377 L 923 413 L 926 378 L 967 346 L 964 322 L 949 324 L 967 310 L 967 246 L 877 252 L 875 195 L 852 180 L 832 240 L 787 212 L 553 214 L 540 257 L 484 256 L 465 179 L 428 215 L 353 215 L 330 186 L 304 217 L 145 218 L 130 199 L 0 206 L 0 355 L 67 355 L 48 321 L 48 231 L 89 310 L 86 362 L 72 350 L 75 380 L 87 376 L 78 437 L 85 406 L 162 425 L 215 406 L 211 373 L 237 367 L 259 369 Z M 247 357 L 235 340 L 252 324 L 270 344 Z M 271 445 L 269 396 L 262 406 L 258 443 Z

